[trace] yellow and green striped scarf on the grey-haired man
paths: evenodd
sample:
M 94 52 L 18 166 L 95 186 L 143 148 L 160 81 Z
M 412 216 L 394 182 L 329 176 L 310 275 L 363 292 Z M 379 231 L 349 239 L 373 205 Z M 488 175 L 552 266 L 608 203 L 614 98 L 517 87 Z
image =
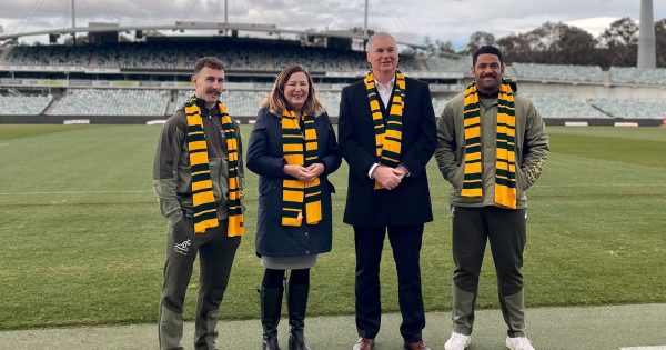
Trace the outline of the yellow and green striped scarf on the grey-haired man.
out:
M 380 97 L 377 89 L 375 88 L 372 72 L 365 77 L 364 82 L 375 129 L 375 150 L 376 156 L 380 158 L 380 167 L 395 168 L 400 164 L 402 114 L 405 107 L 405 76 L 400 71 L 395 73 L 393 99 L 391 100 L 390 106 L 386 106 L 386 109 L 389 110 L 386 123 L 384 123 L 384 116 L 380 108 Z M 382 186 L 375 181 L 375 190 L 379 189 L 382 189 Z

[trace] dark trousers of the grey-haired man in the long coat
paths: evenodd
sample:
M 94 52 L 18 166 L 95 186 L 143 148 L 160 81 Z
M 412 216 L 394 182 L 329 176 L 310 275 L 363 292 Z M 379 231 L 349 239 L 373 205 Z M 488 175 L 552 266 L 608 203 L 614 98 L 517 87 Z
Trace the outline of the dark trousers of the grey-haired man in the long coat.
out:
M 380 297 L 380 262 L 384 238 L 393 249 L 397 270 L 397 296 L 403 321 L 400 332 L 404 340 L 422 340 L 425 328 L 421 291 L 420 253 L 423 224 L 403 227 L 354 227 L 356 247 L 356 329 L 363 338 L 375 338 L 380 331 L 382 302 Z

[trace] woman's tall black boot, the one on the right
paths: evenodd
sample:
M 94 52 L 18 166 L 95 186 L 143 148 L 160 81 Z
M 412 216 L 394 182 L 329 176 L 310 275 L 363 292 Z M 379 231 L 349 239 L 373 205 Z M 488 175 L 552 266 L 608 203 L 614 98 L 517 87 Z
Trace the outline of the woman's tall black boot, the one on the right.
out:
M 305 343 L 305 310 L 310 284 L 289 286 L 286 306 L 289 307 L 289 350 L 311 350 Z

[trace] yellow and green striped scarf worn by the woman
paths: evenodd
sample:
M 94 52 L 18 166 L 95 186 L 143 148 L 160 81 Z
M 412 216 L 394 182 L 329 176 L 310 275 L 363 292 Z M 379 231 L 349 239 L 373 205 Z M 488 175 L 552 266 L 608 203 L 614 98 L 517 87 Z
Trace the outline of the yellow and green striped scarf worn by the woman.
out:
M 319 159 L 314 116 L 303 116 L 303 128 L 299 118 L 291 110 L 282 112 L 282 152 L 287 164 L 309 167 Z M 282 181 L 282 224 L 301 226 L 303 222 L 303 203 L 305 203 L 305 221 L 316 224 L 322 221 L 322 192 L 320 179 Z

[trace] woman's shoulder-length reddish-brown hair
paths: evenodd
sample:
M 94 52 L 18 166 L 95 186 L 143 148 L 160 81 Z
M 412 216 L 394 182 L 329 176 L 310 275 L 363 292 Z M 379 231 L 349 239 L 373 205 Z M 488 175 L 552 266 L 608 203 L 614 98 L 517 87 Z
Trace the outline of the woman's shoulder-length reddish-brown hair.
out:
M 303 68 L 301 64 L 291 64 L 285 67 L 273 83 L 273 89 L 269 97 L 261 102 L 261 107 L 268 107 L 269 110 L 273 113 L 280 114 L 282 113 L 286 107 L 286 98 L 284 97 L 284 86 L 294 73 L 303 72 L 305 77 L 307 77 L 307 99 L 305 99 L 305 103 L 303 103 L 302 111 L 306 113 L 314 113 L 315 116 L 324 111 L 324 104 L 316 97 L 316 92 L 314 91 L 314 84 L 312 83 L 312 77 L 310 73 Z

